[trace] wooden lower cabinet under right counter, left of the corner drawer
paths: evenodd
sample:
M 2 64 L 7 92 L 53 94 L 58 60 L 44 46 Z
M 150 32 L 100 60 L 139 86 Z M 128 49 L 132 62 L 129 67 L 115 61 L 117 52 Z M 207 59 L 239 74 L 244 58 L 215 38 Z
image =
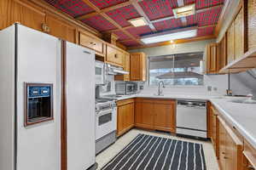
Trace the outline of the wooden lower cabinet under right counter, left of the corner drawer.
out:
M 242 141 L 218 116 L 219 167 L 221 170 L 242 169 Z

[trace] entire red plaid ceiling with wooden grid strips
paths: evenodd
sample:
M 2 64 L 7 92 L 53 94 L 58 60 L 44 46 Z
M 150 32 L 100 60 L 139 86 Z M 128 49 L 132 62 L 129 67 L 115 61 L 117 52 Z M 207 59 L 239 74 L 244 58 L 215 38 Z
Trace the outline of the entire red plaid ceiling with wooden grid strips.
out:
M 175 19 L 172 13 L 172 9 L 178 7 L 177 0 L 137 0 L 137 5 L 129 3 L 129 0 L 89 0 L 96 8 L 104 8 L 104 13 L 108 17 L 104 14 L 94 14 L 96 10 L 91 8 L 91 4 L 84 3 L 86 2 L 84 0 L 44 1 L 73 18 L 84 17 L 81 21 L 98 31 L 113 30 L 113 33 L 119 37 L 119 41 L 128 47 L 140 45 L 134 39 L 154 32 L 153 28 L 155 31 L 166 31 L 183 26 L 198 26 L 197 37 L 213 35 L 224 5 L 224 0 L 183 0 L 184 4 L 195 3 L 196 14 L 185 17 L 182 22 L 181 19 Z M 119 5 L 118 8 L 114 8 L 116 5 Z M 142 11 L 139 11 L 140 8 Z M 128 20 L 141 17 L 143 14 L 146 14 L 152 26 L 131 26 Z M 123 27 L 124 30 L 118 29 L 116 25 Z

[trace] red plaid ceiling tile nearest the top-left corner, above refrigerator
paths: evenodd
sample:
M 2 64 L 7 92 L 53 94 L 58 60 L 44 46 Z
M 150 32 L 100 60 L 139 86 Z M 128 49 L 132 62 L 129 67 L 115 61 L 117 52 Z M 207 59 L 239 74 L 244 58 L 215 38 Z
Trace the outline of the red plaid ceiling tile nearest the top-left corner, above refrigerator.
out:
M 90 8 L 90 6 L 88 6 L 82 0 L 44 0 L 44 1 L 73 17 L 77 17 L 82 14 L 88 14 L 94 11 L 92 8 Z

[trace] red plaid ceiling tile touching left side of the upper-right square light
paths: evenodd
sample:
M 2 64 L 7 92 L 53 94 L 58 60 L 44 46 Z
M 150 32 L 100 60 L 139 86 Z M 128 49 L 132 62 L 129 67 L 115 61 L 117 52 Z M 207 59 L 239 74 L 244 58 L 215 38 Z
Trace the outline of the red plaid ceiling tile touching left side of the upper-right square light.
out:
M 143 0 L 139 3 L 149 20 L 172 16 L 172 8 L 177 7 L 177 0 Z

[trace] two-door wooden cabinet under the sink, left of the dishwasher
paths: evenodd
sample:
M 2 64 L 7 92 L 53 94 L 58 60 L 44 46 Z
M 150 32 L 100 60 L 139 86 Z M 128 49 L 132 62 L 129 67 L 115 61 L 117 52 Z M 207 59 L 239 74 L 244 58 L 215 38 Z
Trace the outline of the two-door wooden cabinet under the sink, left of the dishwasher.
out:
M 135 126 L 176 132 L 176 101 L 172 99 L 136 99 Z

